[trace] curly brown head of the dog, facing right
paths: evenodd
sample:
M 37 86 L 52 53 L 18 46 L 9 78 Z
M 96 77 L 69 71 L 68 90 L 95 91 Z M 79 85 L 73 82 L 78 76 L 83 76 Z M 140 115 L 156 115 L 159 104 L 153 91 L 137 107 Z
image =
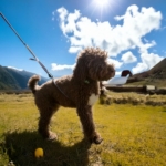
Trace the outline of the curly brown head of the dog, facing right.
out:
M 107 62 L 105 51 L 87 48 L 79 54 L 73 74 L 80 81 L 105 81 L 115 75 L 115 70 L 114 65 Z

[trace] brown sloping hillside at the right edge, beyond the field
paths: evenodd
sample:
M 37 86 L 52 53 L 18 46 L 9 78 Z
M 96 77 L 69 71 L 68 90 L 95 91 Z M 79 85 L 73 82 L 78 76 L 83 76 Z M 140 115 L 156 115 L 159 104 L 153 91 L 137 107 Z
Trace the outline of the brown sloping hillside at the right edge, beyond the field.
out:
M 134 74 L 127 84 L 166 86 L 166 59 L 162 60 L 149 71 Z

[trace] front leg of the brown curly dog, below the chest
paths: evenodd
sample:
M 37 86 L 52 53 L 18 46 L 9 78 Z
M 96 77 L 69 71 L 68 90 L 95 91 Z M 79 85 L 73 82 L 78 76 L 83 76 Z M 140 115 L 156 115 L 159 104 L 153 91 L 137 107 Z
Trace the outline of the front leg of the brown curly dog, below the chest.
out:
M 77 114 L 81 120 L 85 137 L 87 137 L 91 143 L 101 144 L 103 139 L 101 138 L 100 134 L 95 131 L 92 106 L 79 106 Z

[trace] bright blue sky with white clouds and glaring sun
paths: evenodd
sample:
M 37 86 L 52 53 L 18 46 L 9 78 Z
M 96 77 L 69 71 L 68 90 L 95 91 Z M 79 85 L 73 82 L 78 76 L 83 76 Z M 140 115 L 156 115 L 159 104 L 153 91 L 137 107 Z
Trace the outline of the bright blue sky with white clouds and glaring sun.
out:
M 116 76 L 166 58 L 165 0 L 0 0 L 0 12 L 55 77 L 86 46 L 106 50 Z M 0 18 L 0 65 L 48 76 Z

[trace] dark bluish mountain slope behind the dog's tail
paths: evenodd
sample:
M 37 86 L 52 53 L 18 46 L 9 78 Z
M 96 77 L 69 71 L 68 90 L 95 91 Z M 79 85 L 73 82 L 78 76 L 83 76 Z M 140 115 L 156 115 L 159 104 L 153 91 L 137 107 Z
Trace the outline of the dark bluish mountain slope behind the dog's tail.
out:
M 0 90 L 27 90 L 28 80 L 32 75 L 34 75 L 34 73 L 0 65 Z M 41 76 L 39 84 L 48 80 L 49 79 Z

